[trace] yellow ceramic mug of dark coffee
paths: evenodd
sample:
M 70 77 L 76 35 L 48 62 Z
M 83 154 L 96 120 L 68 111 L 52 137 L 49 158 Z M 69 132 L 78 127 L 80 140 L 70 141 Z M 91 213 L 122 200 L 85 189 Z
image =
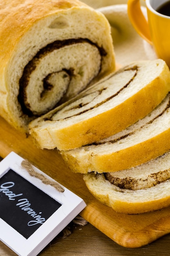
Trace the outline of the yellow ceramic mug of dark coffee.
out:
M 137 33 L 153 45 L 157 56 L 170 67 L 170 16 L 157 11 L 165 2 L 168 0 L 146 0 L 147 21 L 140 0 L 128 0 L 128 16 Z

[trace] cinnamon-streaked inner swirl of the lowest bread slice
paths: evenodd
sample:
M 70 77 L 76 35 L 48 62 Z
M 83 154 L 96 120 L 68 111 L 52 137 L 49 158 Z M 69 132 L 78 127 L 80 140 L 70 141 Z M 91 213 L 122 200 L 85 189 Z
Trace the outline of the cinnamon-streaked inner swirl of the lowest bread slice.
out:
M 170 152 L 130 169 L 104 173 L 106 180 L 121 189 L 147 189 L 170 179 Z

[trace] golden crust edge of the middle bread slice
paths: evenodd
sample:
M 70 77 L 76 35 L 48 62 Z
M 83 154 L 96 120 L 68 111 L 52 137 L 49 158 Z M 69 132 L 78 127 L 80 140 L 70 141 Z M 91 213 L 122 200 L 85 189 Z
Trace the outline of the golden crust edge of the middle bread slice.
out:
M 62 151 L 62 157 L 69 168 L 76 173 L 115 172 L 143 164 L 170 150 L 170 129 L 137 145 L 103 155 L 74 155 Z

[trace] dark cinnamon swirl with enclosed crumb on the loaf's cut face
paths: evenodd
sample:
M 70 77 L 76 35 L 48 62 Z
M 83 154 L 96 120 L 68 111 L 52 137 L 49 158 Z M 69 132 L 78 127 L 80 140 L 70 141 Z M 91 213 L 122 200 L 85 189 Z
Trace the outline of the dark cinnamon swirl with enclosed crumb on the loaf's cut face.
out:
M 18 101 L 29 117 L 41 116 L 77 95 L 99 74 L 106 52 L 88 39 L 57 40 L 29 61 Z

